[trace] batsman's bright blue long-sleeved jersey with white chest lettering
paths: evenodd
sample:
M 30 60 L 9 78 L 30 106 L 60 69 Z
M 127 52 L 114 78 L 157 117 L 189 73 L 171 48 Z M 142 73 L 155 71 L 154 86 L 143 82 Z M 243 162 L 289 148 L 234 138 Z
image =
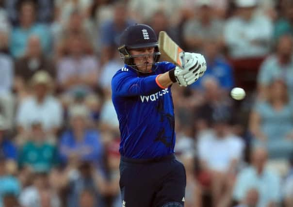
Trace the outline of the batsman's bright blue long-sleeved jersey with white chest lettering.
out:
M 128 65 L 112 79 L 112 100 L 121 133 L 120 154 L 149 159 L 174 153 L 174 106 L 171 86 L 161 88 L 156 77 L 175 68 L 161 62 L 157 70 L 141 74 Z

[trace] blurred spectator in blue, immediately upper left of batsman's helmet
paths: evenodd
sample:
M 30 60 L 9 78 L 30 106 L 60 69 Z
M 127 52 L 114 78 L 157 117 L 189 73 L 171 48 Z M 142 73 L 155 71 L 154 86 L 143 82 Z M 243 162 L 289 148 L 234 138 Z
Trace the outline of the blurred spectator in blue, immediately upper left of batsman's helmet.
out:
M 113 19 L 105 21 L 101 27 L 101 39 L 98 40 L 102 47 L 101 49 L 101 62 L 107 63 L 111 58 L 111 49 L 120 46 L 120 34 L 130 25 L 135 22 L 128 17 L 128 11 L 125 4 L 118 1 L 114 4 Z

